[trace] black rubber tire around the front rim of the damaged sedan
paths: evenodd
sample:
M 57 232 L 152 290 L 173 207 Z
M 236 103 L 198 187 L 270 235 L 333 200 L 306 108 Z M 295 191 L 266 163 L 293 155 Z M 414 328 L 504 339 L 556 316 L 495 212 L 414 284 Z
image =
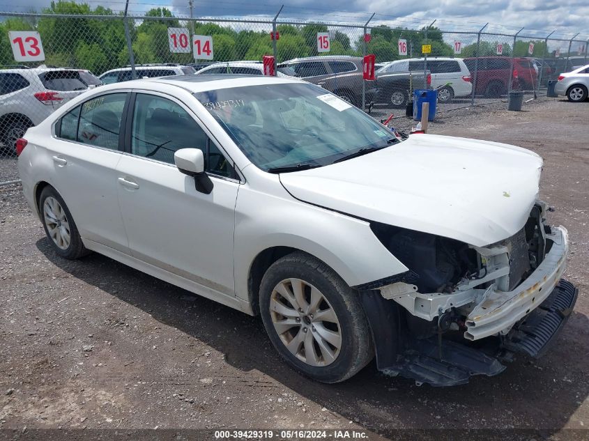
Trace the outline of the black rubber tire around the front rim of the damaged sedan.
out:
M 328 301 L 328 307 L 337 316 L 338 329 L 341 327 L 341 349 L 335 360 L 326 366 L 311 366 L 293 355 L 275 330 L 272 318 L 272 314 L 275 313 L 270 312 L 270 300 L 274 288 L 286 279 L 301 279 L 317 288 Z M 288 254 L 268 268 L 260 286 L 260 312 L 266 332 L 278 353 L 293 369 L 313 380 L 326 383 L 347 380 L 374 357 L 372 337 L 358 293 L 353 291 L 328 265 L 309 254 L 303 252 Z M 292 332 L 298 330 L 296 336 L 303 332 L 303 328 L 292 329 Z M 313 332 L 315 332 L 314 327 Z M 295 336 L 292 339 L 294 340 Z M 300 346 L 300 350 L 303 351 L 304 346 Z

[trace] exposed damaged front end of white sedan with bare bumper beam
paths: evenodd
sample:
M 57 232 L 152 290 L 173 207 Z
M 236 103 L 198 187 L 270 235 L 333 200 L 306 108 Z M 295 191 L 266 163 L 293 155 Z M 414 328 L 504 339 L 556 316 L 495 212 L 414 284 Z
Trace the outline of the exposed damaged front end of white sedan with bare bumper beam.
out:
M 561 279 L 567 230 L 533 206 L 523 228 L 485 247 L 372 224 L 409 270 L 357 287 L 378 369 L 450 386 L 493 376 L 514 353 L 539 357 L 565 324 L 578 290 Z

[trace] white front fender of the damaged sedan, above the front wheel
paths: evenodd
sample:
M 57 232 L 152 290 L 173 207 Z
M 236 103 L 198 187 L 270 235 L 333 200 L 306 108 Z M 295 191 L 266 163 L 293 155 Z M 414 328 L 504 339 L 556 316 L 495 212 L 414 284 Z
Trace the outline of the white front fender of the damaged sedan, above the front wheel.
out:
M 243 185 L 236 203 L 236 295 L 248 299 L 247 280 L 254 259 L 265 249 L 299 249 L 329 265 L 349 286 L 407 271 L 376 238 L 368 222 Z

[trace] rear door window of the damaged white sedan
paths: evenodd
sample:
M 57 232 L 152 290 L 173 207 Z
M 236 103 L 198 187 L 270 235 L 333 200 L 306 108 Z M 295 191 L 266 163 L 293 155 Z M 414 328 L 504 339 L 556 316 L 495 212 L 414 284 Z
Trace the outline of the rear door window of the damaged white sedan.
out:
M 84 102 L 79 115 L 77 141 L 117 150 L 126 99 L 127 93 L 111 93 Z

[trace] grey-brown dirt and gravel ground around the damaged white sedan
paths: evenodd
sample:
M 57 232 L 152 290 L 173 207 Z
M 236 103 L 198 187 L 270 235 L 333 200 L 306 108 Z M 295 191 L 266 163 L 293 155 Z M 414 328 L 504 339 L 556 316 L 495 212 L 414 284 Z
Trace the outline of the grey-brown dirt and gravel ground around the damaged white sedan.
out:
M 551 222 L 569 229 L 567 279 L 580 290 L 545 357 L 444 389 L 382 376 L 374 364 L 344 384 L 306 380 L 281 362 L 259 318 L 98 254 L 57 257 L 20 187 L 0 187 L 0 433 L 304 427 L 399 438 L 448 428 L 463 438 L 464 429 L 518 428 L 538 429 L 523 432 L 528 440 L 589 438 L 588 115 L 589 103 L 541 100 L 431 125 L 544 157 L 542 196 L 556 210 Z

